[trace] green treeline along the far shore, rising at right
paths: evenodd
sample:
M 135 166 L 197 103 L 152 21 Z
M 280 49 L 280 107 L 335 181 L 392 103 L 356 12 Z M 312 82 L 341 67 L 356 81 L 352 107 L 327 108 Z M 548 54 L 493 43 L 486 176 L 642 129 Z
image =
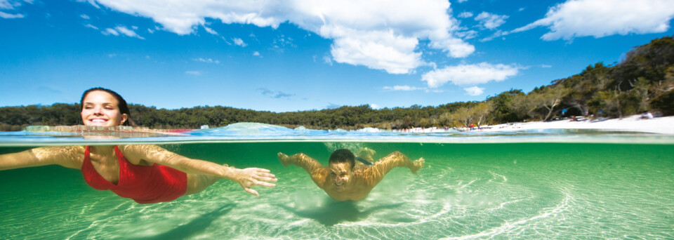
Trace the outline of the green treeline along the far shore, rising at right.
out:
M 129 105 L 129 109 L 138 126 L 149 128 L 199 128 L 201 125 L 212 128 L 258 122 L 291 128 L 402 129 L 465 127 L 568 116 L 616 118 L 642 111 L 668 116 L 674 115 L 674 39 L 666 36 L 637 46 L 614 66 L 598 62 L 580 74 L 557 79 L 529 93 L 511 89 L 481 102 L 384 109 L 361 105 L 282 113 L 221 106 L 169 110 Z M 562 109 L 566 109 L 563 115 Z M 79 103 L 0 107 L 0 131 L 20 131 L 31 125 L 80 125 L 79 112 Z

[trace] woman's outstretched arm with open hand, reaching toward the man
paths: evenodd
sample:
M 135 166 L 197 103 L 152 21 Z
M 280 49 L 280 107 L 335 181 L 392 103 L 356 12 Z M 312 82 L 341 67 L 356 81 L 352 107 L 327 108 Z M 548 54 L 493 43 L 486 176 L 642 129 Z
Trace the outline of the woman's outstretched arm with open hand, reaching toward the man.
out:
M 170 152 L 157 145 L 126 145 L 119 146 L 122 154 L 131 163 L 138 163 L 141 160 L 150 161 L 161 165 L 176 168 L 185 173 L 214 175 L 220 178 L 227 178 L 239 182 L 246 192 L 256 194 L 253 186 L 276 187 L 276 176 L 269 170 L 263 168 L 234 168 L 225 165 L 215 164 L 210 161 L 199 159 L 190 159 L 185 156 Z

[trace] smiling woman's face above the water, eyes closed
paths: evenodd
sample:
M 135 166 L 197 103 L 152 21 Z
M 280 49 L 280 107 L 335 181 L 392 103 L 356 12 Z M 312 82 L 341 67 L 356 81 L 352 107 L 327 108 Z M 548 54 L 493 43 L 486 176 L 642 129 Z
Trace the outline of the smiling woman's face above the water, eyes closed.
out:
M 119 112 L 119 102 L 110 93 L 93 91 L 82 102 L 82 122 L 85 126 L 120 126 L 126 114 Z

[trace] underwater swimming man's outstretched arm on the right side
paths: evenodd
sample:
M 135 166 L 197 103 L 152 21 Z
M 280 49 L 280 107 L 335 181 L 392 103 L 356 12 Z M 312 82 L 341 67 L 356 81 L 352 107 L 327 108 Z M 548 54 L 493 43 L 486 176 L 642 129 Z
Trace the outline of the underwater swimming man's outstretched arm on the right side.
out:
M 409 168 L 412 173 L 416 174 L 416 171 L 423 167 L 424 160 L 423 158 L 416 161 L 410 161 L 405 154 L 401 152 L 392 152 L 388 156 L 379 159 L 376 163 L 364 170 L 364 178 L 367 182 L 367 185 L 374 187 L 379 183 L 386 173 L 391 171 L 395 167 L 405 167 Z

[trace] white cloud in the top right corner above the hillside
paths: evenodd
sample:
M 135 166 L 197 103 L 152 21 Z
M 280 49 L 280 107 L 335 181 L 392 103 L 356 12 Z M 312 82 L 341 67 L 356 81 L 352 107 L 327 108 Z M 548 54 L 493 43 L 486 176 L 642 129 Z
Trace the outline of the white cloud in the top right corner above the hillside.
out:
M 574 39 L 579 36 L 595 38 L 614 34 L 647 34 L 666 32 L 674 18 L 671 0 L 575 0 L 557 4 L 546 13 L 546 18 L 532 22 L 513 32 L 535 27 L 548 27 L 550 32 L 541 39 Z

